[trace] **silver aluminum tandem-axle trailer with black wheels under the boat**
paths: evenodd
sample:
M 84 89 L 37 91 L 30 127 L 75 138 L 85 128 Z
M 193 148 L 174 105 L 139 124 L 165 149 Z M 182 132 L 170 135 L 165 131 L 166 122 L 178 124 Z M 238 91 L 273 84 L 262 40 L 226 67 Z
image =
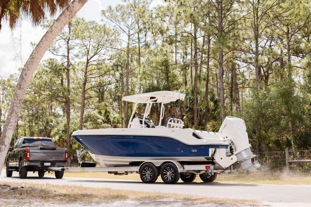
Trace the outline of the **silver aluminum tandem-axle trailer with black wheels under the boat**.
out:
M 77 149 L 79 163 L 83 163 L 81 162 L 81 157 L 85 152 L 86 150 Z M 166 184 L 174 184 L 179 178 L 184 182 L 192 182 L 197 175 L 200 176 L 203 182 L 213 182 L 217 174 L 233 174 L 235 172 L 233 165 L 229 166 L 228 169 L 216 170 L 212 164 L 181 165 L 175 160 L 149 160 L 143 162 L 139 166 L 125 167 L 81 167 L 81 165 L 82 164 L 80 164 L 80 167 L 65 167 L 65 171 L 108 172 L 114 175 L 139 173 L 142 182 L 154 183 L 158 176 L 161 176 Z M 174 174 L 177 174 L 177 176 L 174 176 Z M 168 179 L 169 177 L 174 179 Z

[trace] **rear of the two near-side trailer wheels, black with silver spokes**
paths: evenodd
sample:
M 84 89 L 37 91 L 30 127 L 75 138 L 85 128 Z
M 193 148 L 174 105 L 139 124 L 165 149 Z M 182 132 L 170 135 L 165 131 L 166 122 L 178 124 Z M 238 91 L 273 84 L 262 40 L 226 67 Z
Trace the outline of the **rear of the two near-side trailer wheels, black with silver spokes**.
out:
M 170 162 L 164 164 L 161 169 L 161 178 L 166 184 L 175 184 L 178 182 L 180 173 L 178 172 L 176 165 Z

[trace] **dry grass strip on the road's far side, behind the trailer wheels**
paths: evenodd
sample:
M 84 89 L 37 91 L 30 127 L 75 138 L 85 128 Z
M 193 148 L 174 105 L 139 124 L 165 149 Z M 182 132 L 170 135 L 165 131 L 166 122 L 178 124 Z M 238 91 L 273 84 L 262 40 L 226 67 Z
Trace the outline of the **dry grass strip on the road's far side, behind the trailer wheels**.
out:
M 119 180 L 141 180 L 139 174 L 133 173 L 128 175 L 114 175 L 107 172 L 65 172 L 66 177 L 77 178 L 104 178 Z M 157 181 L 162 182 L 161 177 Z M 179 182 L 182 182 L 179 180 Z M 202 182 L 199 176 L 194 182 Z M 218 183 L 248 183 L 248 184 L 274 184 L 274 185 L 311 185 L 311 174 L 292 174 L 289 176 L 283 174 L 271 175 L 269 173 L 249 173 L 238 172 L 233 175 L 218 175 L 215 182 Z

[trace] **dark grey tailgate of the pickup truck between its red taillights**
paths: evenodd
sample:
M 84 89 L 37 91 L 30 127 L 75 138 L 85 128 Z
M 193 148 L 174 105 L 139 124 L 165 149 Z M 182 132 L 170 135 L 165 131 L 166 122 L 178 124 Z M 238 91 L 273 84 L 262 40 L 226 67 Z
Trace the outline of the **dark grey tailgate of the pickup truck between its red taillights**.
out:
M 65 148 L 58 147 L 30 147 L 29 160 L 59 161 L 65 160 Z

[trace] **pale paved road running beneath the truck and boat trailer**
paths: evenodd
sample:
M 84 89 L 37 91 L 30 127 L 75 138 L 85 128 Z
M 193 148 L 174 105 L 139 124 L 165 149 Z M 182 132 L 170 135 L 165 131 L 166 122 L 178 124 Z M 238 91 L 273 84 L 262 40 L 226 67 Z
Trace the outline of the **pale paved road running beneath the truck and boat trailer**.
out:
M 108 187 L 112 189 L 167 192 L 218 198 L 247 199 L 281 203 L 311 203 L 311 185 L 264 185 L 264 184 L 234 184 L 234 183 L 184 183 L 174 185 L 155 182 L 146 184 L 141 181 L 113 180 L 97 178 L 70 178 L 56 179 L 54 175 L 45 174 L 43 178 L 38 173 L 28 172 L 26 179 L 18 178 L 18 173 L 13 172 L 11 178 L 5 177 L 2 170 L 0 181 L 49 183 L 52 185 L 69 185 L 83 187 Z M 126 176 L 126 175 L 125 175 Z

